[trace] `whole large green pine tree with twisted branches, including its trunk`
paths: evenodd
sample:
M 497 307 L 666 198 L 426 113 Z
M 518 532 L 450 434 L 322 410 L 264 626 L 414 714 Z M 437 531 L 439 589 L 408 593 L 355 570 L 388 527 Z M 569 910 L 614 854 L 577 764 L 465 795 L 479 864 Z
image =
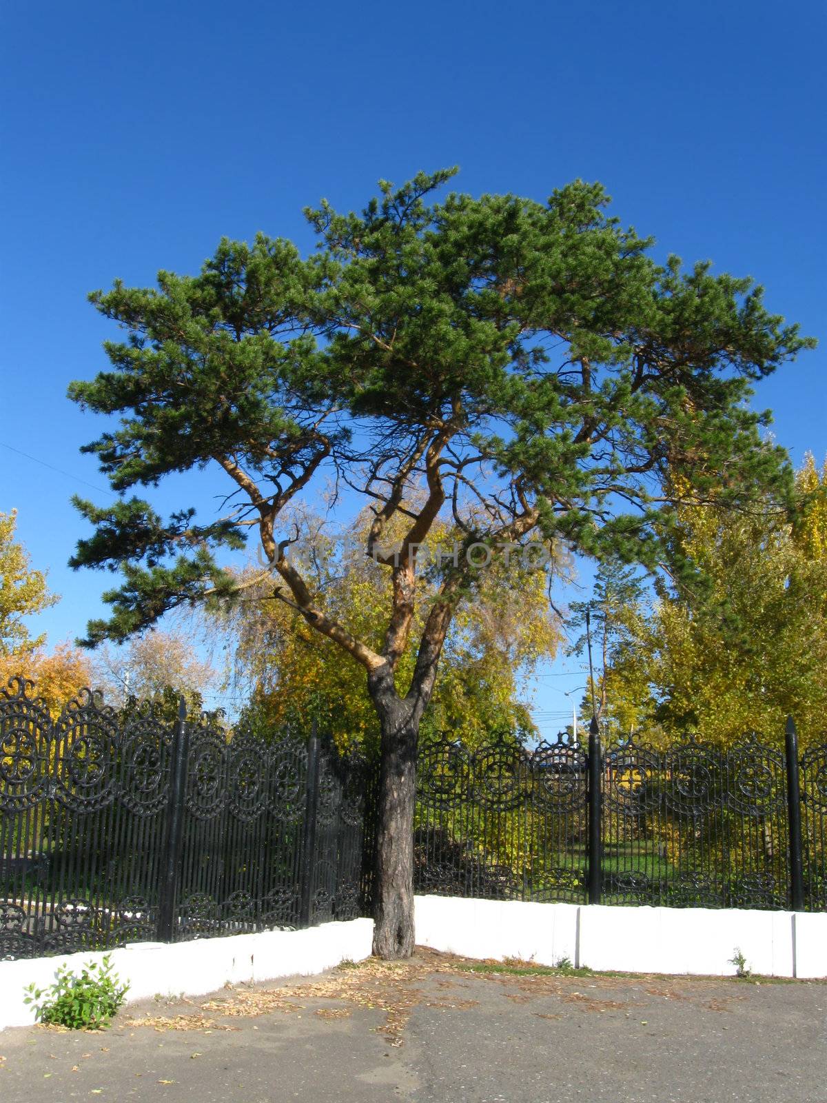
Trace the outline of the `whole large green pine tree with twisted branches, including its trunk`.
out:
M 747 399 L 808 343 L 751 280 L 658 265 L 606 217 L 600 185 L 547 203 L 432 202 L 451 175 L 382 183 L 361 214 L 323 202 L 308 212 L 320 242 L 307 260 L 262 235 L 224 240 L 200 276 L 96 292 L 128 336 L 107 343 L 109 371 L 69 390 L 120 418 L 87 446 L 115 490 L 208 463 L 234 490 L 204 524 L 184 502 L 167 521 L 138 497 L 78 502 L 95 532 L 74 565 L 123 575 L 88 643 L 237 595 L 218 554 L 253 529 L 277 598 L 364 667 L 382 731 L 374 949 L 387 957 L 414 949 L 417 738 L 454 612 L 480 585 L 470 560 L 536 539 L 654 567 L 669 472 L 722 508 L 785 495 L 784 454 Z M 325 473 L 374 511 L 366 552 L 390 578 L 378 650 L 281 554 L 286 507 Z M 463 534 L 458 556 L 426 567 L 419 545 L 443 515 Z M 405 535 L 388 553 L 393 522 Z M 426 572 L 432 598 L 404 679 Z

